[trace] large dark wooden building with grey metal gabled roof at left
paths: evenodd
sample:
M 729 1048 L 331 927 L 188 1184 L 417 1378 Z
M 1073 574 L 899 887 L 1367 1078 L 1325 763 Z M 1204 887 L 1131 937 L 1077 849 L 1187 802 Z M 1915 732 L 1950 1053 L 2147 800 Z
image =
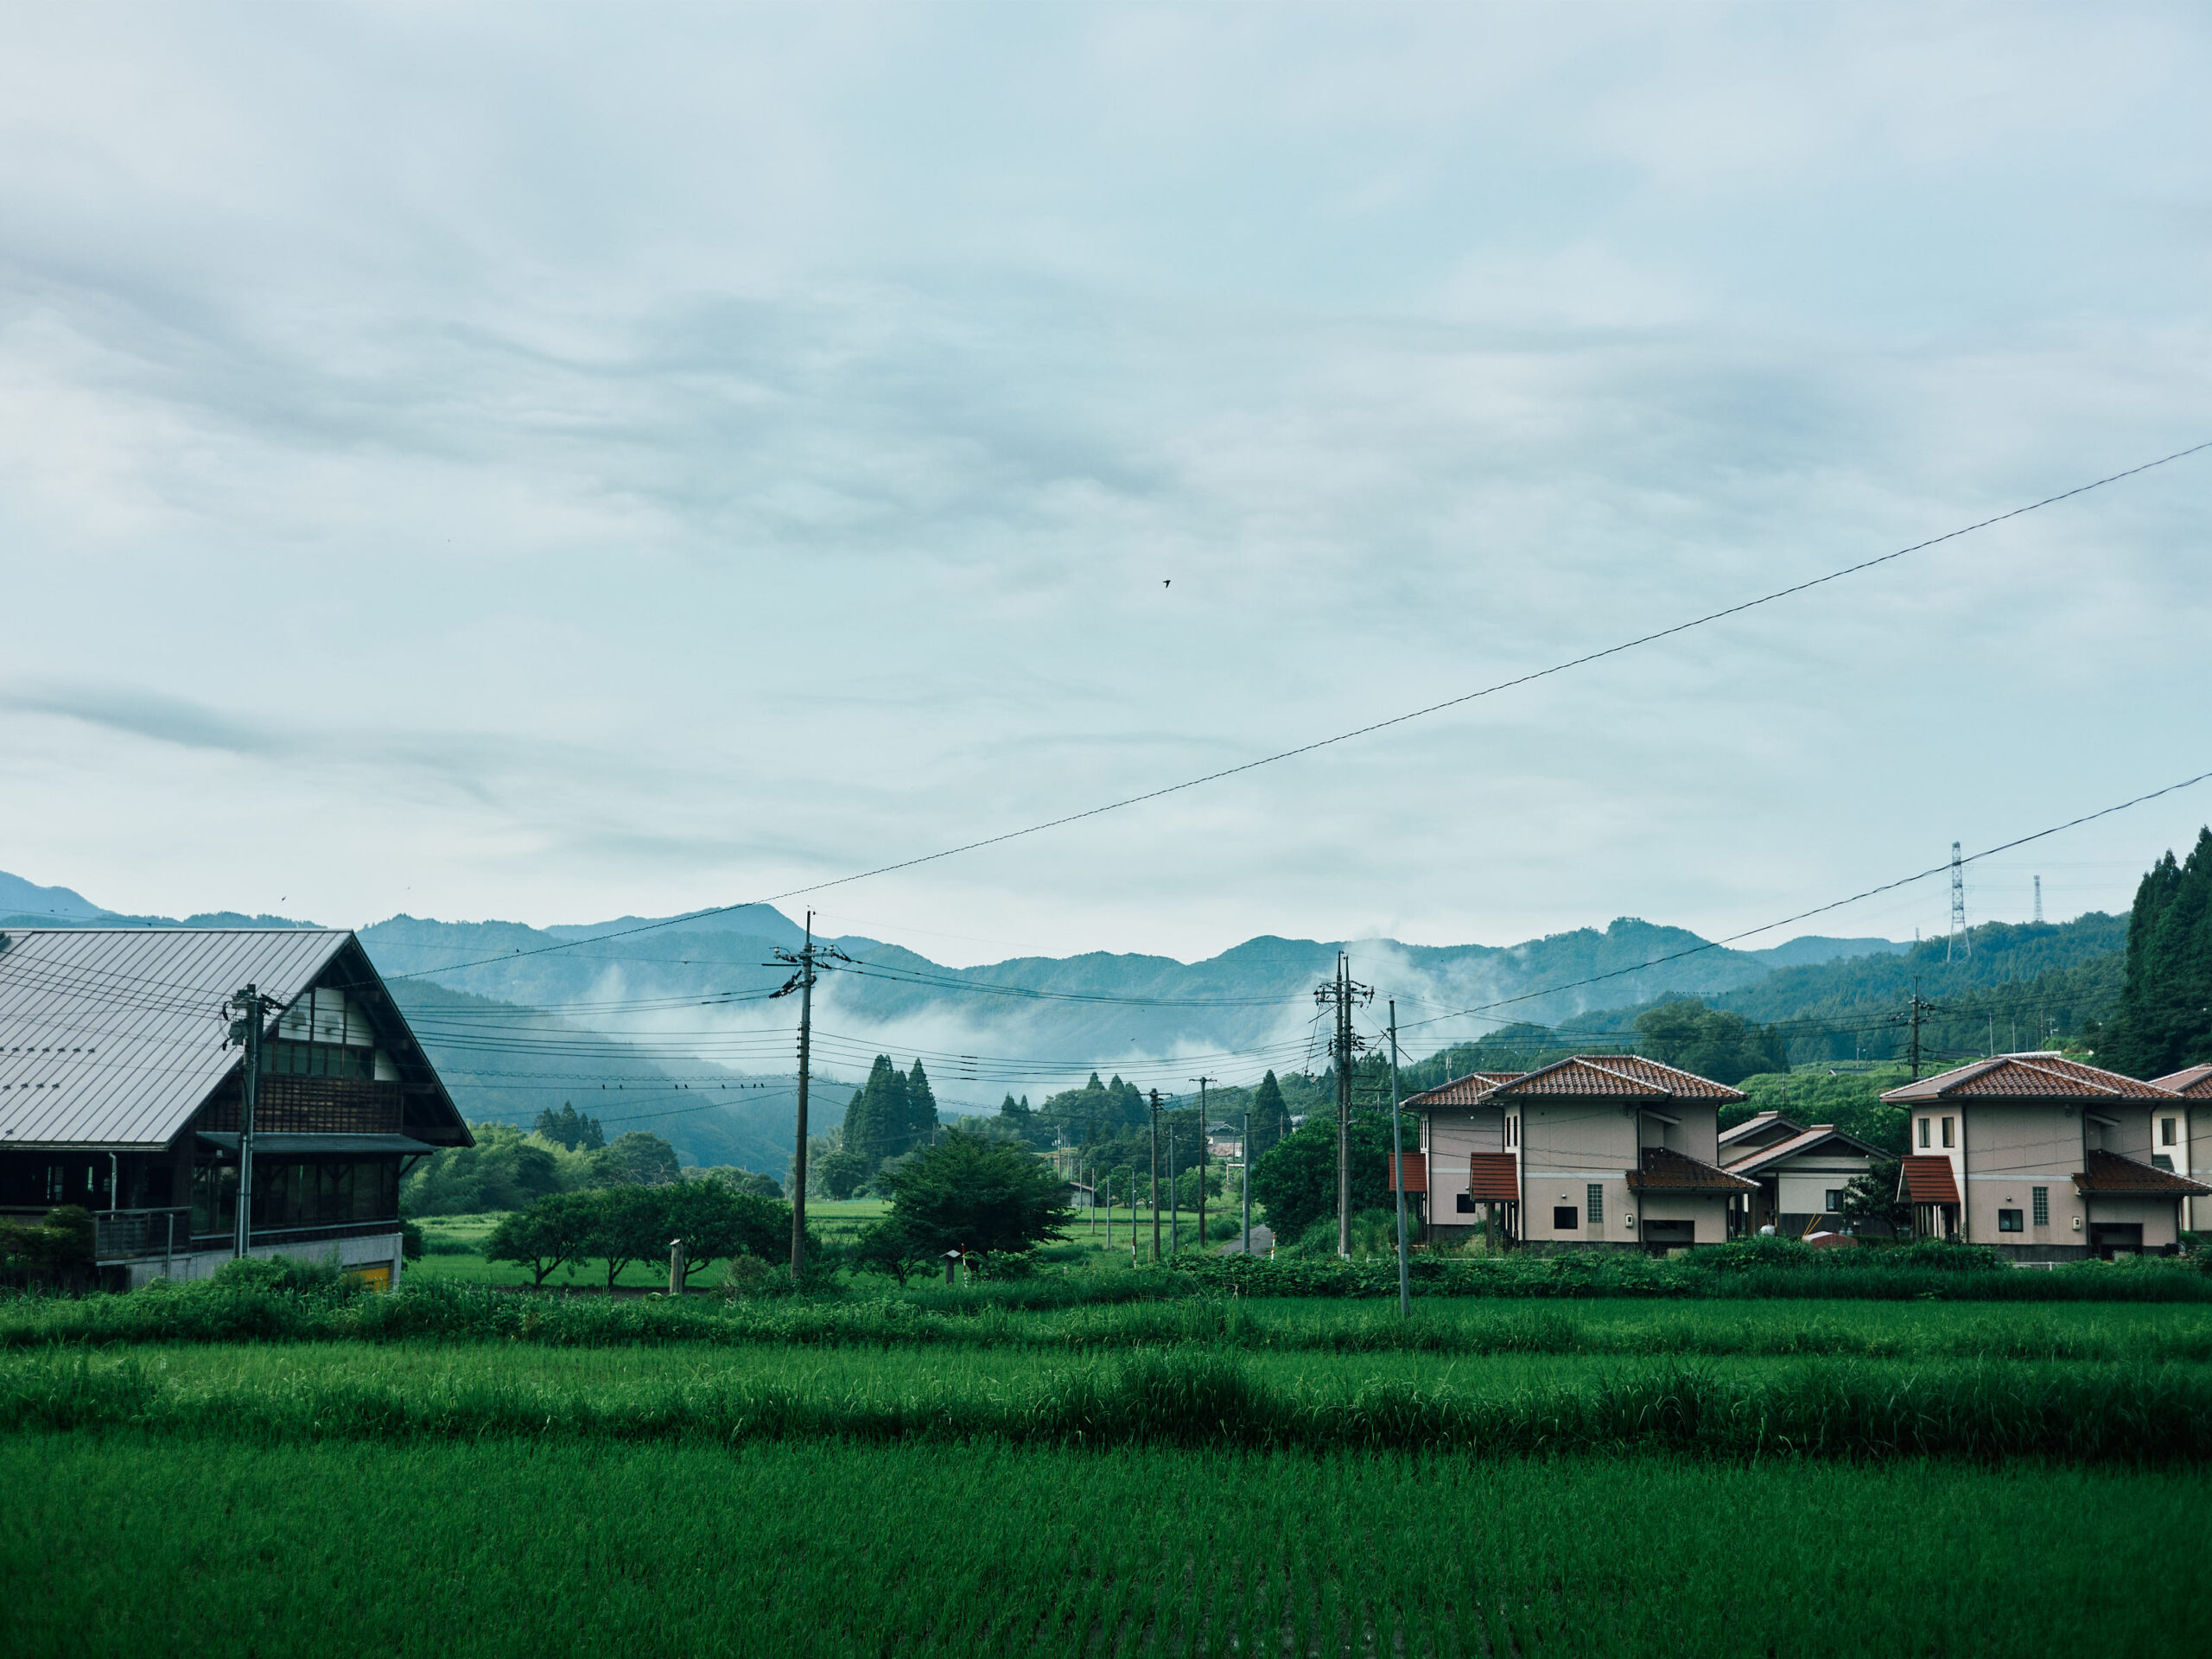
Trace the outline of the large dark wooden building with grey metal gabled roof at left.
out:
M 400 1272 L 400 1175 L 471 1146 L 367 951 L 345 929 L 0 936 L 0 1214 L 82 1206 L 115 1290 L 237 1254 L 243 1044 L 226 1004 L 268 1002 L 252 1124 L 250 1252 Z

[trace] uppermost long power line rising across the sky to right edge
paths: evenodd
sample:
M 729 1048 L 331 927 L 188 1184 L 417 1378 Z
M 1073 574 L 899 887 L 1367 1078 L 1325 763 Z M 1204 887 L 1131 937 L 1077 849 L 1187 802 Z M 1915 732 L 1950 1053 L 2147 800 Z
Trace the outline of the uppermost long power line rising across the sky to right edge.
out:
M 1144 805 L 1148 801 L 1161 801 L 1161 799 L 1166 799 L 1170 794 L 1181 794 L 1183 790 L 1197 790 L 1197 787 L 1203 787 L 1208 783 L 1221 783 L 1223 779 L 1234 779 L 1234 776 L 1241 776 L 1245 772 L 1256 772 L 1263 765 L 1276 765 L 1279 761 L 1292 761 L 1292 759 L 1296 759 L 1301 754 L 1314 754 L 1316 750 L 1334 748 L 1336 743 L 1349 743 L 1349 741 L 1360 739 L 1360 737 L 1371 737 L 1376 732 L 1385 732 L 1385 730 L 1389 730 L 1394 726 L 1405 726 L 1407 721 L 1418 721 L 1418 719 L 1427 719 L 1429 714 L 1440 714 L 1447 708 L 1462 708 L 1464 703 L 1473 703 L 1473 701 L 1478 701 L 1482 697 L 1495 697 L 1498 692 L 1506 692 L 1506 690 L 1513 690 L 1517 686 L 1531 686 L 1531 684 L 1535 684 L 1540 679 L 1551 679 L 1553 675 L 1564 675 L 1564 672 L 1568 672 L 1573 668 L 1586 668 L 1593 661 L 1604 661 L 1606 657 L 1619 657 L 1626 650 L 1637 650 L 1641 646 L 1650 646 L 1650 644 L 1657 644 L 1661 639 L 1672 639 L 1674 635 L 1690 633 L 1692 628 L 1703 628 L 1708 624 L 1723 622 L 1728 617 L 1739 617 L 1745 611 L 1756 611 L 1759 606 L 1774 604 L 1778 599 L 1787 599 L 1787 597 L 1798 595 L 1798 593 L 1809 593 L 1812 588 L 1827 586 L 1829 582 L 1840 582 L 1840 580 L 1845 580 L 1849 575 L 1860 575 L 1865 571 L 1874 571 L 1876 566 L 1889 564 L 1893 560 L 1902 560 L 1902 557 L 1907 557 L 1911 553 L 1924 553 L 1927 549 L 1940 546 L 1942 542 L 1955 542 L 1962 535 L 1973 535 L 1975 531 L 1986 531 L 1986 529 L 1991 529 L 1995 524 L 2004 524 L 2004 522 L 2022 518 L 2026 513 L 2037 513 L 2044 507 L 2055 507 L 2059 502 L 2073 500 L 2075 495 L 2086 495 L 2093 489 L 2104 489 L 2106 484 L 2117 484 L 2117 482 L 2121 482 L 2126 478 L 2135 478 L 2139 473 L 2148 473 L 2154 467 L 2166 467 L 2170 462 L 2183 460 L 2183 458 L 2194 456 L 2194 453 L 2205 451 L 2205 449 L 2212 449 L 2212 438 L 2208 438 L 2205 442 L 2190 445 L 2188 449 L 2177 449 L 2170 456 L 2159 456 L 2157 460 L 2146 460 L 2146 462 L 2141 462 L 2137 467 L 2128 467 L 2128 469 L 2117 471 L 2117 473 L 2106 473 L 2104 478 L 2093 478 L 2086 484 L 2075 484 L 2073 489 L 2062 489 L 2055 495 L 2044 495 L 2042 500 L 2028 502 L 2024 507 L 2013 507 L 2011 511 L 1995 513 L 1995 515 L 1984 518 L 1984 520 L 1975 520 L 1973 524 L 1962 524 L 1955 531 L 1944 531 L 1942 535 L 1931 535 L 1931 538 L 1927 538 L 1922 542 L 1913 542 L 1909 546 L 1893 549 L 1891 553 L 1880 553 L 1880 555 L 1876 555 L 1871 560 L 1860 560 L 1858 564 L 1845 564 L 1843 568 L 1827 571 L 1825 575 L 1807 577 L 1805 582 L 1792 582 L 1785 588 L 1774 588 L 1772 593 L 1761 593 L 1761 595 L 1756 595 L 1752 599 L 1741 599 L 1741 602 L 1723 606 L 1719 611 L 1708 611 L 1705 615 L 1690 617 L 1688 622 L 1677 622 L 1677 624 L 1672 624 L 1668 628 L 1657 628 L 1652 633 L 1637 635 L 1635 639 L 1621 639 L 1619 644 L 1604 646 L 1599 650 L 1588 650 L 1588 653 L 1584 653 L 1579 657 L 1568 657 L 1566 661 L 1551 664 L 1548 668 L 1535 668 L 1535 670 L 1531 670 L 1526 675 L 1515 675 L 1513 679 L 1500 679 L 1500 681 L 1495 681 L 1491 686 L 1482 686 L 1482 688 L 1471 690 L 1471 692 L 1460 692 L 1458 697 L 1447 697 L 1440 703 L 1427 703 L 1422 708 L 1407 710 L 1405 714 L 1391 714 L 1389 719 L 1369 721 L 1367 726 L 1354 726 L 1349 732 L 1338 732 L 1336 737 L 1323 737 L 1323 739 L 1316 739 L 1312 743 L 1298 743 L 1296 748 L 1276 750 L 1274 754 L 1261 754 L 1261 757 L 1256 757 L 1252 761 L 1241 761 L 1237 765 L 1225 765 L 1225 768 L 1221 768 L 1217 772 L 1206 772 L 1206 774 L 1194 776 L 1194 779 L 1183 779 L 1181 783 L 1168 783 L 1168 785 L 1164 785 L 1159 790 L 1146 790 L 1144 794 L 1121 796 L 1119 801 L 1108 801 L 1108 803 L 1097 805 L 1097 807 L 1084 807 L 1082 812 L 1068 812 L 1068 814 L 1062 814 L 1057 818 L 1046 818 L 1042 823 L 1026 825 L 1022 830 L 1006 830 L 1006 832 L 995 834 L 995 836 L 982 836 L 978 841 L 964 841 L 958 847 L 942 847 L 938 852 L 925 852 L 925 854 L 920 854 L 916 858 L 900 858 L 898 863 L 876 865 L 874 869 L 860 869 L 860 872 L 849 874 L 849 876 L 834 876 L 830 880 L 807 883 L 805 887 L 790 887 L 790 889 L 785 889 L 781 894 L 770 894 L 765 898 L 750 898 L 750 900 L 743 900 L 743 902 L 737 902 L 737 905 L 710 905 L 706 909 L 686 911 L 684 916 L 666 916 L 666 918 L 655 920 L 655 922 L 639 922 L 637 927 L 624 927 L 624 929 L 617 929 L 617 931 L 611 931 L 611 933 L 593 933 L 591 938 L 582 938 L 582 940 L 560 940 L 555 945 L 540 945 L 540 947 L 529 949 L 529 951 L 520 951 L 518 949 L 518 951 L 507 951 L 502 956 L 484 956 L 484 958 L 478 958 L 473 962 L 449 962 L 449 964 L 445 964 L 440 969 L 416 969 L 414 973 L 398 973 L 398 975 L 392 975 L 392 978 L 418 980 L 418 978 L 427 978 L 431 973 L 458 973 L 460 969 L 484 967 L 487 962 L 509 962 L 509 960 L 513 960 L 518 956 L 549 956 L 553 951 L 568 951 L 568 949 L 575 949 L 580 945 L 595 945 L 595 942 L 611 940 L 611 938 L 633 938 L 637 933 L 650 933 L 650 931 L 657 931 L 657 929 L 664 929 L 664 927 L 677 927 L 679 922 L 695 922 L 695 920 L 701 920 L 706 916 L 728 916 L 730 911 L 750 909 L 754 905 L 774 905 L 774 902 L 781 902 L 785 898 L 799 898 L 803 894 L 821 894 L 821 891 L 827 891 L 830 887 L 849 887 L 852 883 L 858 883 L 858 880 L 874 880 L 876 876 L 891 876 L 891 874 L 898 874 L 900 869 L 916 869 L 918 865 L 938 863 L 940 858 L 958 858 L 960 854 L 982 852 L 984 847 L 1000 847 L 1000 845 L 1004 845 L 1009 841 L 1020 841 L 1024 836 L 1037 836 L 1037 834 L 1044 834 L 1048 830 L 1064 830 L 1071 823 L 1082 823 L 1086 818 L 1097 818 L 1097 816 L 1104 816 L 1108 812 L 1121 812 L 1126 807 Z

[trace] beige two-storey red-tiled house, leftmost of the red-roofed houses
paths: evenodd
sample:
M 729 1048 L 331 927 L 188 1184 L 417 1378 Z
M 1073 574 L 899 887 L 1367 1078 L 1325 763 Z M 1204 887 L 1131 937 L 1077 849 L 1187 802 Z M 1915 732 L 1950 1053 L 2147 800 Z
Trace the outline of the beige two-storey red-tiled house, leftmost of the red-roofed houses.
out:
M 1721 1243 L 1756 1183 L 1719 1164 L 1719 1108 L 1743 1095 L 1641 1055 L 1471 1073 L 1413 1095 L 1431 1239 L 1531 1250 Z

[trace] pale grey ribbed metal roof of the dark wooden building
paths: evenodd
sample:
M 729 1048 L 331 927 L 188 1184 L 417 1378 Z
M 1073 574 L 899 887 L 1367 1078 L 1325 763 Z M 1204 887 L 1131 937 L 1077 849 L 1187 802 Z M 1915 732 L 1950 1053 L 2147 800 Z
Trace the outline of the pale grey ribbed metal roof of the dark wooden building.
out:
M 223 1000 L 279 1004 L 352 938 L 332 927 L 40 927 L 0 953 L 0 1144 L 166 1146 L 239 1066 Z

